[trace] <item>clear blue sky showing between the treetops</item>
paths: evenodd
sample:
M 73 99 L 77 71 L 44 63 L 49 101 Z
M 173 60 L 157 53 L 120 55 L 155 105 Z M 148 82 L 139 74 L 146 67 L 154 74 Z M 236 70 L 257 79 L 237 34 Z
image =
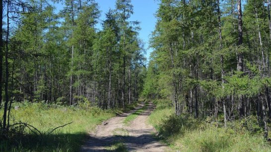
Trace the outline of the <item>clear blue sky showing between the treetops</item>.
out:
M 99 9 L 101 12 L 100 21 L 105 19 L 105 13 L 109 8 L 115 9 L 116 0 L 96 0 L 99 4 Z M 158 9 L 157 0 L 132 0 L 134 5 L 134 14 L 131 16 L 130 21 L 139 21 L 141 30 L 139 31 L 139 38 L 145 43 L 146 57 L 149 57 L 150 52 L 152 51 L 149 48 L 148 41 L 149 35 L 155 28 L 156 18 L 154 13 Z M 62 4 L 56 4 L 57 11 L 62 9 Z M 97 28 L 100 28 L 101 25 L 97 25 Z

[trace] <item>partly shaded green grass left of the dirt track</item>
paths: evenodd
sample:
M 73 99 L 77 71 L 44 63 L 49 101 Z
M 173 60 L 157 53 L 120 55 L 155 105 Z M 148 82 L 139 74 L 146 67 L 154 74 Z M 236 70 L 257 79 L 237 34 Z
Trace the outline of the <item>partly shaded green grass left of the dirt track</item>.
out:
M 116 115 L 116 110 L 101 110 L 97 107 L 65 107 L 44 103 L 14 103 L 18 110 L 12 108 L 14 122 L 22 121 L 39 129 L 43 136 L 33 134 L 25 129 L 23 135 L 15 135 L 9 140 L 0 140 L 0 152 L 74 152 L 79 151 L 88 133 L 102 121 Z M 123 109 L 128 110 L 129 108 Z M 0 111 L 0 115 L 2 111 Z M 53 128 L 71 124 L 55 130 Z

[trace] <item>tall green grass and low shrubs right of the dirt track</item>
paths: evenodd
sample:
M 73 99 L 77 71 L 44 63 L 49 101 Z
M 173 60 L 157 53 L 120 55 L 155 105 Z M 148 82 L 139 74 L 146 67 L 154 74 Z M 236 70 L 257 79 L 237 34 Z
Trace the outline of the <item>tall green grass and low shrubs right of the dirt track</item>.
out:
M 238 121 L 229 123 L 227 128 L 217 128 L 213 123 L 188 115 L 174 116 L 169 101 L 155 103 L 157 108 L 150 115 L 149 123 L 159 132 L 159 139 L 168 144 L 172 151 L 271 152 L 271 145 L 265 141 L 262 132 L 253 133 L 239 128 Z

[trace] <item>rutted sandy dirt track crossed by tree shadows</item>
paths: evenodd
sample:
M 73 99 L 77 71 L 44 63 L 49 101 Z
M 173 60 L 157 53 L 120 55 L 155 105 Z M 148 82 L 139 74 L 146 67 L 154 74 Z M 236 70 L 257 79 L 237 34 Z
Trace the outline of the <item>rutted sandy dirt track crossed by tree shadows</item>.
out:
M 147 124 L 147 118 L 155 108 L 153 103 L 150 102 L 129 126 L 123 123 L 128 115 L 143 108 L 144 104 L 141 102 L 134 110 L 122 113 L 97 126 L 96 132 L 90 134 L 81 151 L 111 152 L 115 150 L 122 152 L 126 149 L 129 152 L 164 152 L 165 145 L 153 138 L 154 128 Z M 119 149 L 116 150 L 114 147 L 119 147 Z

